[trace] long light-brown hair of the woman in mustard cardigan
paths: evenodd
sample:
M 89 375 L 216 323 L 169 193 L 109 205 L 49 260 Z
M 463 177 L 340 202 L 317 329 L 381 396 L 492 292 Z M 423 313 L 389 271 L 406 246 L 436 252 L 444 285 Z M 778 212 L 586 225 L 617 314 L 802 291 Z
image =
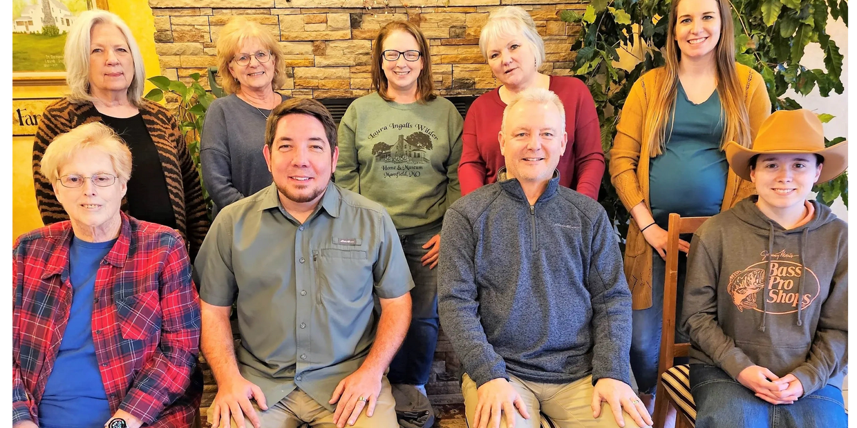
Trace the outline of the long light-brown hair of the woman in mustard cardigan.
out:
M 652 107 L 646 112 L 643 140 L 649 141 L 649 156 L 655 158 L 663 153 L 667 145 L 667 122 L 675 113 L 675 97 L 679 87 L 679 62 L 681 51 L 675 40 L 675 25 L 678 20 L 680 0 L 673 2 L 669 10 L 667 27 L 667 65 L 666 78 L 661 87 L 655 90 Z M 715 48 L 717 93 L 720 97 L 723 136 L 721 150 L 729 140 L 741 146 L 752 146 L 750 137 L 750 119 L 745 104 L 744 88 L 738 81 L 735 69 L 735 37 L 732 21 L 732 7 L 729 0 L 717 0 L 720 9 L 720 40 Z

